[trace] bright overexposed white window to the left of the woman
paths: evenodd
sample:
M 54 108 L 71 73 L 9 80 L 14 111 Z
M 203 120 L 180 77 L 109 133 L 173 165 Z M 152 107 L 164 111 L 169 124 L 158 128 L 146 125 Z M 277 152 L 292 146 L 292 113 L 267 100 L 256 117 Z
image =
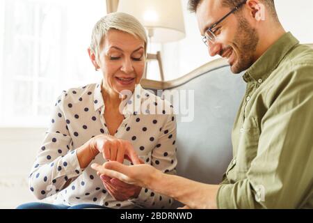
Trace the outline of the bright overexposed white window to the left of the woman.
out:
M 45 126 L 61 91 L 101 79 L 87 48 L 104 0 L 0 0 L 0 125 Z

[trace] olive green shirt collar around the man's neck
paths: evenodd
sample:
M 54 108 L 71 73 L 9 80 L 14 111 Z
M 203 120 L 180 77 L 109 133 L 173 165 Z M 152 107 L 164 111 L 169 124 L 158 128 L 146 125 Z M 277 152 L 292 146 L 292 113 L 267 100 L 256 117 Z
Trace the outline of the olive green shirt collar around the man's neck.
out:
M 290 49 L 298 43 L 299 41 L 290 32 L 285 33 L 248 68 L 245 75 L 243 75 L 245 82 L 257 81 L 259 79 L 262 79 L 262 82 L 264 82 L 271 75 L 271 72 L 278 67 Z

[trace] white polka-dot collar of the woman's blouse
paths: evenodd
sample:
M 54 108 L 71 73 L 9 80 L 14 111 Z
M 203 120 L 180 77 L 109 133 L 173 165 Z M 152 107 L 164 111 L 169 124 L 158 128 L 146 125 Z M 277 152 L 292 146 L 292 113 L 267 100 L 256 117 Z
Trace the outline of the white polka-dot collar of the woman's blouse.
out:
M 95 111 L 99 110 L 101 113 L 104 113 L 105 105 L 102 96 L 102 84 L 103 80 L 95 86 L 94 108 Z M 128 100 L 123 100 L 124 109 L 122 110 L 122 113 L 125 116 L 140 114 L 142 101 L 144 98 L 147 98 L 147 95 L 145 94 L 145 90 L 142 88 L 141 84 L 137 84 L 134 92 L 131 93 L 131 95 L 127 95 Z

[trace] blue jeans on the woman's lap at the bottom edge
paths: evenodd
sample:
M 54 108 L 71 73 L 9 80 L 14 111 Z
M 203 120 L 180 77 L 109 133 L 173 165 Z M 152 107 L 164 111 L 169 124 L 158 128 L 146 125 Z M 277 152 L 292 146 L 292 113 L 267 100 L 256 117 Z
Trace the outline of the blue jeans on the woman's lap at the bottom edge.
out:
M 97 208 L 97 209 L 110 209 L 104 206 L 99 206 L 95 204 L 82 203 L 75 206 L 66 206 L 66 205 L 55 205 L 51 203 L 24 203 L 18 206 L 16 209 L 86 209 L 86 208 Z

